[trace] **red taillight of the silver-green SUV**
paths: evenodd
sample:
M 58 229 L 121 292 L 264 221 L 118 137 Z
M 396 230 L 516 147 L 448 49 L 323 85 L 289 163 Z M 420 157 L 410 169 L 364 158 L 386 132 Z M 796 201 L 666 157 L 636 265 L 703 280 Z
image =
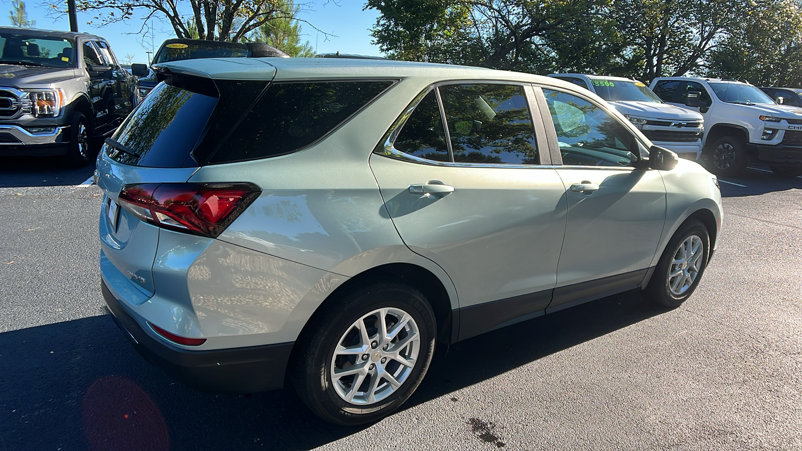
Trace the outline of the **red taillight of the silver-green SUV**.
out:
M 119 205 L 143 221 L 217 238 L 259 193 L 252 183 L 148 183 L 125 185 Z

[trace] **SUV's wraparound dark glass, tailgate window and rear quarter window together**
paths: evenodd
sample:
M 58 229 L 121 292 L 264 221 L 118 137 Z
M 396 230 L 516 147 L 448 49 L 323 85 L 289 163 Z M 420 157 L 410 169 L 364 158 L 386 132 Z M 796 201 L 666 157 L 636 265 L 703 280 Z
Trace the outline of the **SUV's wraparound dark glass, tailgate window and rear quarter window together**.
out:
M 159 168 L 284 155 L 320 140 L 394 83 L 192 79 L 168 77 L 156 87 L 115 133 L 122 146 L 107 144 L 107 154 Z

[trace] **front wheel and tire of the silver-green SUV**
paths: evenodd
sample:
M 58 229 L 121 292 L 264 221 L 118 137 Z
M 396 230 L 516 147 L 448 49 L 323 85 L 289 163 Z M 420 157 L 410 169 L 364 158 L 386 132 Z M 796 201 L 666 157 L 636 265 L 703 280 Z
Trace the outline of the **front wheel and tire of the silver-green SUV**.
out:
M 663 307 L 679 307 L 699 286 L 709 256 L 707 227 L 696 219 L 686 221 L 663 251 L 644 297 Z

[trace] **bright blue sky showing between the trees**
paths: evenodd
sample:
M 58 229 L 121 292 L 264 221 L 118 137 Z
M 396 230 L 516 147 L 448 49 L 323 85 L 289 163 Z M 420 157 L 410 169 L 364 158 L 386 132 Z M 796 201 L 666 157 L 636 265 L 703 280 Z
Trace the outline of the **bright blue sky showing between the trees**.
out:
M 306 2 L 306 0 L 301 1 Z M 49 18 L 47 17 L 47 8 L 38 6 L 40 2 L 41 0 L 25 2 L 28 18 L 36 21 L 37 28 L 69 30 L 70 22 L 67 20 L 66 14 L 55 20 Z M 379 47 L 371 44 L 372 38 L 369 31 L 376 22 L 378 12 L 375 10 L 363 11 L 364 0 L 337 0 L 336 2 L 314 0 L 308 3 L 310 3 L 310 7 L 302 11 L 298 18 L 310 22 L 319 30 L 331 35 L 326 38 L 326 35 L 314 30 L 312 26 L 302 23 L 303 39 L 308 40 L 313 48 L 317 46 L 318 53 L 340 51 L 359 55 L 381 55 Z M 8 18 L 8 11 L 11 9 L 10 0 L 2 0 L 2 6 L 0 23 L 7 26 L 10 25 Z M 138 14 L 138 16 L 141 17 L 144 14 Z M 108 39 L 120 61 L 126 60 L 126 55 L 133 55 L 134 63 L 145 63 L 148 58 L 145 52 L 151 50 L 151 42 L 155 47 L 153 50 L 156 50 L 164 39 L 175 37 L 175 34 L 172 26 L 169 26 L 167 22 L 153 21 L 155 30 L 153 39 L 151 40 L 149 37 L 144 39 L 146 42 L 143 45 L 142 36 L 137 35 L 142 21 L 136 17 L 135 14 L 135 18 L 129 20 L 128 23 L 99 27 L 95 24 L 87 25 L 87 22 L 92 20 L 91 14 L 79 13 L 78 29 Z

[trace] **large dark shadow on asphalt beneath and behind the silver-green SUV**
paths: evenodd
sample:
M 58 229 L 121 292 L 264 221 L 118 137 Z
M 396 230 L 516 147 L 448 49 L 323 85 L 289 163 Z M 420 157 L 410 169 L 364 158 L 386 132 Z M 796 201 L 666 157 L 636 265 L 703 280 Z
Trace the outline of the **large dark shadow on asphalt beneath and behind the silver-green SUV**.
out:
M 660 313 L 632 291 L 456 343 L 407 407 Z M 0 388 L 2 451 L 311 449 L 363 429 L 326 424 L 291 390 L 187 388 L 140 358 L 107 316 L 0 333 Z

